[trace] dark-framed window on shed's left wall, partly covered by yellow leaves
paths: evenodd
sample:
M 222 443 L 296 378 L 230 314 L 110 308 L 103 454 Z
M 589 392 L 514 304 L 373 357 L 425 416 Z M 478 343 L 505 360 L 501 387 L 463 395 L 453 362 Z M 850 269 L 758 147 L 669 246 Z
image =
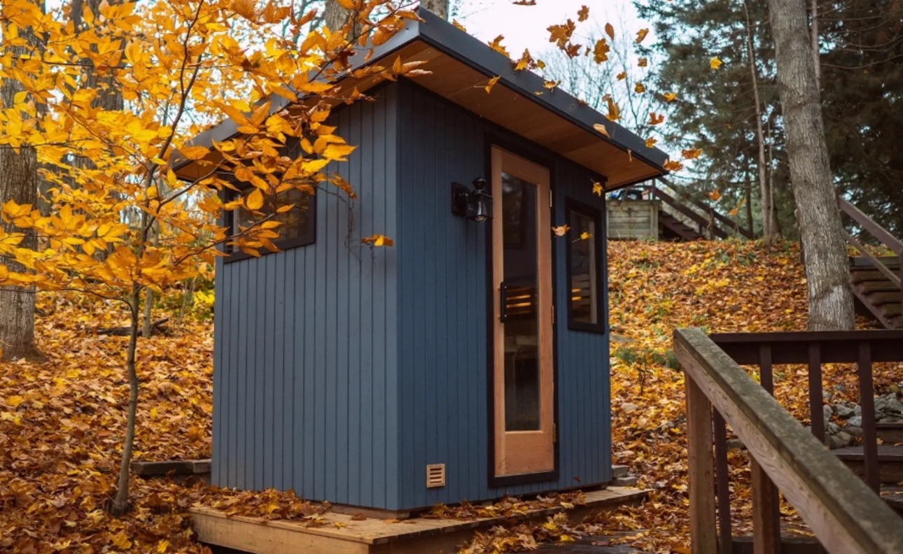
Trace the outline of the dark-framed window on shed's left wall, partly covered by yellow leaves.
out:
M 250 192 L 246 190 L 242 194 Z M 279 194 L 274 199 L 272 197 L 266 199 L 264 207 L 261 208 L 264 214 L 272 214 L 275 216 L 273 220 L 279 221 L 282 225 L 275 228 L 279 233 L 279 238 L 274 239 L 273 243 L 280 250 L 294 248 L 296 246 L 311 245 L 316 238 L 316 193 L 310 194 L 299 189 L 290 189 Z M 278 213 L 278 209 L 284 206 L 293 205 L 294 208 Z M 230 213 L 232 220 L 232 232 L 240 232 L 242 227 L 247 227 L 255 221 L 259 221 L 260 217 L 247 211 L 245 208 L 238 208 Z M 270 251 L 266 248 L 260 248 L 261 255 L 268 254 Z M 229 262 L 242 260 L 249 257 L 241 251 L 236 250 L 226 259 Z

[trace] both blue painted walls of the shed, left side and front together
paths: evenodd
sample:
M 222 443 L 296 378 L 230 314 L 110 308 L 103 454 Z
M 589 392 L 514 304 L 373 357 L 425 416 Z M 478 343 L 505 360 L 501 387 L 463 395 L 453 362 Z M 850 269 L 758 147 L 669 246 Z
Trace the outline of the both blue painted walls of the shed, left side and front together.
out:
M 349 244 L 396 246 L 349 249 L 347 209 L 321 194 L 313 245 L 218 263 L 214 483 L 408 509 L 610 481 L 608 336 L 568 330 L 558 286 L 558 478 L 489 487 L 487 226 L 450 211 L 452 180 L 489 176 L 490 136 L 549 162 L 554 225 L 566 197 L 605 213 L 590 173 L 410 81 L 375 94 L 334 114 L 359 145 L 336 169 L 360 196 Z M 425 487 L 433 463 L 447 486 Z

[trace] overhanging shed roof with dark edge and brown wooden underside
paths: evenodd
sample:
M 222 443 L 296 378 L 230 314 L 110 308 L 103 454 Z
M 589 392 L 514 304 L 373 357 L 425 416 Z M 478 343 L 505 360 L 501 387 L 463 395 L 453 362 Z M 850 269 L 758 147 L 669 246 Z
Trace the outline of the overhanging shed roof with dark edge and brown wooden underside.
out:
M 667 154 L 648 148 L 643 139 L 563 90 L 545 88 L 545 80 L 527 70 L 516 71 L 507 56 L 421 9 L 421 22 L 411 21 L 388 42 L 376 47 L 368 60 L 351 58 L 352 66 L 391 65 L 423 61 L 418 69 L 431 71 L 414 78 L 418 85 L 447 98 L 514 134 L 545 146 L 605 178 L 605 189 L 625 187 L 666 174 Z M 355 63 L 355 59 L 358 63 Z M 490 78 L 498 81 L 488 94 Z M 343 88 L 366 92 L 383 78 L 345 78 Z M 271 98 L 272 111 L 291 109 L 284 97 Z M 303 101 L 302 101 L 303 102 Z M 608 136 L 593 125 L 605 125 Z M 191 140 L 210 147 L 214 141 L 236 137 L 237 125 L 226 120 Z M 216 162 L 215 152 L 205 158 Z M 185 180 L 198 179 L 208 169 L 198 162 L 173 156 L 172 167 Z M 209 167 L 209 166 L 207 166 Z

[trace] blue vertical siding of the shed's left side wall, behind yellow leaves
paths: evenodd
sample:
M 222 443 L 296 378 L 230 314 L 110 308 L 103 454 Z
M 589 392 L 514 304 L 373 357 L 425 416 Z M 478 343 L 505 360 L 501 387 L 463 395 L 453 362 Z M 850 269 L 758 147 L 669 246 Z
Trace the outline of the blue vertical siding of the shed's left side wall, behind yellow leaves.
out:
M 365 145 L 336 164 L 357 189 L 354 228 L 317 198 L 313 245 L 217 264 L 213 479 L 293 488 L 311 499 L 395 505 L 396 255 L 360 248 L 396 236 L 396 89 L 337 111 Z

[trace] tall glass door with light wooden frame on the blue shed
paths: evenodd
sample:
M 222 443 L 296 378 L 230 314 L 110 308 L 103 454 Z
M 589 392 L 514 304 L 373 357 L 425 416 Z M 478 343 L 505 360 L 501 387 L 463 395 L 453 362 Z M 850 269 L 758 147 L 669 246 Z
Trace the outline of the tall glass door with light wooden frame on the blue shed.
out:
M 495 475 L 554 469 L 549 171 L 492 149 Z

